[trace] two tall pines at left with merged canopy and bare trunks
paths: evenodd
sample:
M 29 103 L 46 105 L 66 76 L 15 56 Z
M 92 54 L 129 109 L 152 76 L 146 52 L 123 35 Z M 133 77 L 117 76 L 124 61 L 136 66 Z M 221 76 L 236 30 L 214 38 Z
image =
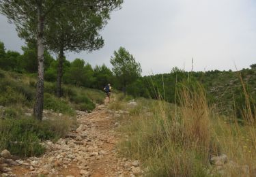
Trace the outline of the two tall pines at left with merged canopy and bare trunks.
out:
M 0 1 L 0 13 L 16 25 L 18 36 L 26 42 L 33 41 L 33 44 L 37 44 L 38 82 L 33 106 L 36 118 L 42 120 L 44 109 L 44 48 L 59 53 L 57 97 L 61 97 L 64 52 L 92 51 L 101 48 L 103 39 L 99 31 L 106 25 L 111 11 L 118 9 L 122 3 L 122 0 L 86 3 L 81 0 Z M 1 46 L 0 44 L 2 50 Z M 3 52 L 1 50 L 0 52 Z M 9 64 L 14 64 L 13 57 L 11 59 L 12 62 Z M 5 65 L 1 66 L 5 68 Z M 33 69 L 35 68 L 37 67 Z

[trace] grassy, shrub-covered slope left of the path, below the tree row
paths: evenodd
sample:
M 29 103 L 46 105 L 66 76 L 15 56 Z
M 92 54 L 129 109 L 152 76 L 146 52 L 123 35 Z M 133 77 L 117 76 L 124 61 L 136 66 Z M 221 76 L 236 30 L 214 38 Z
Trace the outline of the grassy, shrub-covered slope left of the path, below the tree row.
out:
M 57 98 L 56 84 L 45 82 L 46 113 L 40 122 L 32 116 L 35 77 L 1 69 L 0 76 L 0 151 L 20 157 L 42 155 L 42 141 L 58 140 L 76 127 L 74 110 L 91 112 L 104 100 L 102 91 L 72 85 L 64 85 L 63 97 Z

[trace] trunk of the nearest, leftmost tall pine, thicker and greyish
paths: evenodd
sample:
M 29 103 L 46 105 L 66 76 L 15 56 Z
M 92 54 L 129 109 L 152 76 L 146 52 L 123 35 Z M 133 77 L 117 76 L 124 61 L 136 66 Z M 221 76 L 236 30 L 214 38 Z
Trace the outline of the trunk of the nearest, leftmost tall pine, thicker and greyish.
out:
M 33 114 L 38 120 L 42 120 L 44 109 L 44 18 L 42 16 L 42 3 L 38 5 L 38 83 L 36 86 L 35 106 Z

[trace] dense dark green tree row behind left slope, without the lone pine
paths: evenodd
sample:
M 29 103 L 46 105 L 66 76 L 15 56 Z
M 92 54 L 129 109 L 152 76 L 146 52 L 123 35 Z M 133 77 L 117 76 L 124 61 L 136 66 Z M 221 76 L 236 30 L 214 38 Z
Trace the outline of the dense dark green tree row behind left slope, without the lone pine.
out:
M 0 42 L 0 68 L 7 71 L 16 71 L 23 74 L 37 72 L 37 48 L 33 44 L 22 47 L 23 54 L 16 51 L 5 50 Z M 49 82 L 56 82 L 58 61 L 46 50 L 44 51 L 44 78 Z M 113 74 L 106 65 L 92 67 L 83 59 L 70 62 L 63 59 L 63 83 L 85 86 L 89 88 L 104 88 L 104 85 L 113 82 Z

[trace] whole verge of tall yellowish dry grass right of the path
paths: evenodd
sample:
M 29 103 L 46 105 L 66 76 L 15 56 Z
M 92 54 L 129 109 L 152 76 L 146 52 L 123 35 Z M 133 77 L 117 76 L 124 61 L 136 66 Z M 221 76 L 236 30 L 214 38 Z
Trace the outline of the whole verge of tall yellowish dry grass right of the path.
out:
M 145 99 L 137 99 L 137 103 L 123 120 L 120 131 L 128 138 L 119 144 L 119 150 L 142 161 L 147 176 L 209 176 L 214 174 L 210 158 L 221 154 L 237 164 L 225 165 L 225 176 L 246 176 L 244 165 L 250 174 L 255 172 L 255 118 L 244 118 L 250 120 L 244 125 L 236 118 L 225 121 L 232 118 L 214 114 L 200 84 L 177 86 L 177 106 Z M 122 104 L 126 105 L 117 100 L 111 107 Z

